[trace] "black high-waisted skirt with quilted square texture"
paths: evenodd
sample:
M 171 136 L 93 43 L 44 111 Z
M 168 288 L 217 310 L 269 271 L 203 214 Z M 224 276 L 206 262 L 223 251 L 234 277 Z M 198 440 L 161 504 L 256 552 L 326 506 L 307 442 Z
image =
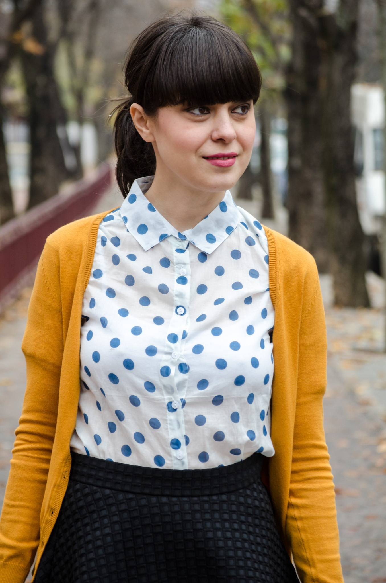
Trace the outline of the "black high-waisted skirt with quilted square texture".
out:
M 298 583 L 262 459 L 170 470 L 72 454 L 36 583 Z

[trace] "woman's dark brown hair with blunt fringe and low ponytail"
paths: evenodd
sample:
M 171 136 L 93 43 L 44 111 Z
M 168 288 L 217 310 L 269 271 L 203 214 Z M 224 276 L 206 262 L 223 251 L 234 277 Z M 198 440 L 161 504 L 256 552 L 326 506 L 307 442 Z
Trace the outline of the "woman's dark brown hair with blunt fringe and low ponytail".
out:
M 132 44 L 124 72 L 130 96 L 114 110 L 116 175 L 124 196 L 136 178 L 156 170 L 153 146 L 132 122 L 132 103 L 152 116 L 159 107 L 181 103 L 256 103 L 261 89 L 258 66 L 238 34 L 215 18 L 192 12 L 165 16 L 143 30 Z

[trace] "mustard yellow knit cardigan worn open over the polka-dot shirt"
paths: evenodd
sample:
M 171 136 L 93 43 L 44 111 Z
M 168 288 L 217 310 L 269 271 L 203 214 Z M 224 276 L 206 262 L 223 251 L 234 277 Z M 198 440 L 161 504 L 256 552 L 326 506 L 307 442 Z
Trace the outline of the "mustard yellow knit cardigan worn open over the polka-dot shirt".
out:
M 80 317 L 100 221 L 57 230 L 38 265 L 22 349 L 27 388 L 0 521 L 0 581 L 22 583 L 58 517 L 79 399 Z M 326 333 L 310 254 L 265 227 L 275 307 L 269 489 L 303 583 L 343 582 L 334 484 L 323 429 Z M 183 471 L 183 470 L 181 470 Z M 35 571 L 36 572 L 36 571 Z

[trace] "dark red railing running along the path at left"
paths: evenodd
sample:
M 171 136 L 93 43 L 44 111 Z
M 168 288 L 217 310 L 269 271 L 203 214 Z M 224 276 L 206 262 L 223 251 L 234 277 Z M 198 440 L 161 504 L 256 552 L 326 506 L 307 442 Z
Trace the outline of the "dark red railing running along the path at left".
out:
M 100 164 L 90 177 L 74 182 L 0 228 L 0 313 L 29 285 L 48 235 L 91 213 L 110 185 L 111 167 Z

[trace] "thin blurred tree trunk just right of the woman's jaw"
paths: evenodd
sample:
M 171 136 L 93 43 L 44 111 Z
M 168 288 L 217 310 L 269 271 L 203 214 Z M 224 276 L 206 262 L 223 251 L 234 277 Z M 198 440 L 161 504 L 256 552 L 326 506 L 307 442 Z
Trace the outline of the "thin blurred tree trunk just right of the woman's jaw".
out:
M 272 201 L 272 173 L 271 173 L 271 119 L 264 107 L 261 109 L 261 144 L 260 144 L 260 184 L 263 195 L 261 216 L 263 219 L 274 219 Z

